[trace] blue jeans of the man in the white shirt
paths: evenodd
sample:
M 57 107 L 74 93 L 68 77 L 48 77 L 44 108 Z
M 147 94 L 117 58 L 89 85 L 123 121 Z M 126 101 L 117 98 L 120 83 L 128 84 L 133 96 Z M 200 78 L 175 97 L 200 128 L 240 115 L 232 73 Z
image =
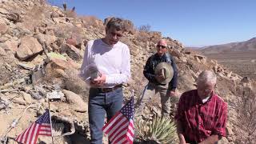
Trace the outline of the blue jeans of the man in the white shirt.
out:
M 100 93 L 98 89 L 90 88 L 89 92 L 89 124 L 90 143 L 102 144 L 102 127 L 105 114 L 107 121 L 122 108 L 122 87 L 108 93 Z

